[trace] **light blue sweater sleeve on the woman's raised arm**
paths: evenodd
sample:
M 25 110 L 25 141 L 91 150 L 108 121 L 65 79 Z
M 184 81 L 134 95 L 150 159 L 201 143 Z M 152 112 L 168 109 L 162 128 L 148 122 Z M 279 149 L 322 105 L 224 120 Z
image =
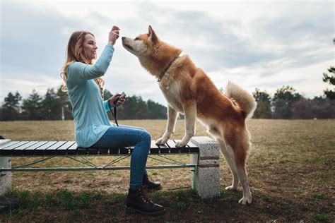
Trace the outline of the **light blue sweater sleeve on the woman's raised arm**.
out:
M 69 75 L 67 78 L 73 83 L 80 84 L 85 82 L 85 80 L 103 76 L 106 73 L 108 66 L 110 66 L 113 52 L 114 47 L 112 45 L 107 45 L 94 65 L 74 62 L 74 64 L 71 64 L 68 68 Z

